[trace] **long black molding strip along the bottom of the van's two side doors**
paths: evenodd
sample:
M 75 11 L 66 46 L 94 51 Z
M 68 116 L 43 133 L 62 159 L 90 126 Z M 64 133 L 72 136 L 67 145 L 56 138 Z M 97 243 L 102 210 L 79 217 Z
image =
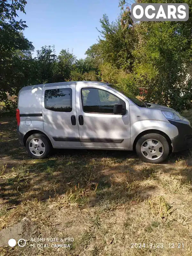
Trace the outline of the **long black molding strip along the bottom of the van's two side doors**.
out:
M 107 142 L 107 143 L 122 143 L 121 139 L 100 139 L 100 138 L 65 138 L 65 137 L 53 137 L 55 141 L 76 141 L 76 142 Z

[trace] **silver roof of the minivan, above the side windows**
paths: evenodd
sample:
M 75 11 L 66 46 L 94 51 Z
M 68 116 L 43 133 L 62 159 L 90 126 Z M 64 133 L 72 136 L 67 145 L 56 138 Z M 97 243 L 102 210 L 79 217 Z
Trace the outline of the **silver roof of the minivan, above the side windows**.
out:
M 31 90 L 31 89 L 35 89 L 35 88 L 46 88 L 46 87 L 50 87 L 50 86 L 70 85 L 70 84 L 80 84 L 80 83 L 110 86 L 109 83 L 104 83 L 104 82 L 99 82 L 99 81 L 71 81 L 71 82 L 29 85 L 29 86 L 25 86 L 25 87 L 21 88 L 20 91 Z

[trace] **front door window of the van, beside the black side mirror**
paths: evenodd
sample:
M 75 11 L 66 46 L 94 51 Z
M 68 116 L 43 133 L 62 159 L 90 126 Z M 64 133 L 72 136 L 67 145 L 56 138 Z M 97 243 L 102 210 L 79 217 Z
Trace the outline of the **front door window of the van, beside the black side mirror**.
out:
M 97 88 L 83 88 L 81 90 L 84 112 L 113 114 L 115 104 L 122 104 L 125 109 L 125 102 L 114 94 Z

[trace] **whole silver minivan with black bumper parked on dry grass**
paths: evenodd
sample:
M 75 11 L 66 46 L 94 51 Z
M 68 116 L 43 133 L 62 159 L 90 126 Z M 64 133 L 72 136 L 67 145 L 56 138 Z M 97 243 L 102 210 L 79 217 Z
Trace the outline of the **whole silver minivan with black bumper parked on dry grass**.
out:
M 23 87 L 16 118 L 20 142 L 34 158 L 45 158 L 52 148 L 114 149 L 160 163 L 192 146 L 190 122 L 174 109 L 102 82 Z

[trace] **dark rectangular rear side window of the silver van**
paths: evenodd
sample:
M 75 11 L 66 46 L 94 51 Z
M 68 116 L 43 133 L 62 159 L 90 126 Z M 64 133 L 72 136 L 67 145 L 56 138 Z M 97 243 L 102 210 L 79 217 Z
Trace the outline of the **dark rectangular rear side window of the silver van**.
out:
M 44 106 L 46 109 L 58 112 L 72 111 L 72 89 L 45 90 Z

